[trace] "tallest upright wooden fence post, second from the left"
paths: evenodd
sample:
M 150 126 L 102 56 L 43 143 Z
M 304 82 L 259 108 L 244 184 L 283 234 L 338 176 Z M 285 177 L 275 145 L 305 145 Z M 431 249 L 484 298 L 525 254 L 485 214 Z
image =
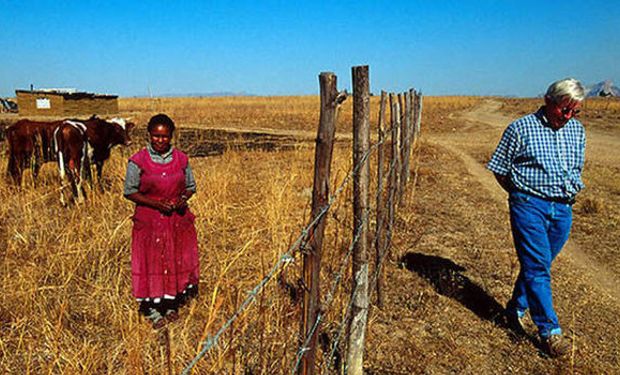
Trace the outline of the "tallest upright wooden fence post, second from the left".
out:
M 364 342 L 368 319 L 368 185 L 370 163 L 364 155 L 370 149 L 370 89 L 368 66 L 355 66 L 353 75 L 353 165 L 360 166 L 353 179 L 353 235 L 360 230 L 353 247 L 353 295 L 347 352 L 347 374 L 364 373 Z

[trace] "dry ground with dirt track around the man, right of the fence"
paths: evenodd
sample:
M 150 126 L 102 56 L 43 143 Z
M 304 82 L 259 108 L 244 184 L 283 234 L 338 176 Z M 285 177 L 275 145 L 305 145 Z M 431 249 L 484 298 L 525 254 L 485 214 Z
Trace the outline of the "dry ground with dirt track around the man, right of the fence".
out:
M 575 206 L 572 239 L 553 267 L 555 305 L 573 339 L 572 355 L 544 358 L 531 322 L 531 339 L 514 341 L 493 318 L 509 299 L 518 272 L 506 196 L 484 168 L 514 119 L 499 108 L 483 102 L 425 133 L 419 185 L 401 210 L 393 268 L 386 272 L 393 300 L 389 312 L 376 313 L 379 324 L 371 327 L 372 340 L 382 348 L 369 353 L 376 373 L 614 373 L 620 368 L 620 334 L 612 328 L 620 309 L 618 267 L 612 266 L 620 258 L 618 203 L 608 198 L 617 194 L 617 177 L 606 164 L 610 155 L 596 151 L 615 142 L 608 135 L 588 132 L 589 188 Z M 412 262 L 424 263 L 421 259 L 440 271 L 429 273 Z M 482 302 L 473 308 L 472 300 Z M 401 330 L 409 338 L 407 349 L 398 346 L 407 341 L 398 339 Z

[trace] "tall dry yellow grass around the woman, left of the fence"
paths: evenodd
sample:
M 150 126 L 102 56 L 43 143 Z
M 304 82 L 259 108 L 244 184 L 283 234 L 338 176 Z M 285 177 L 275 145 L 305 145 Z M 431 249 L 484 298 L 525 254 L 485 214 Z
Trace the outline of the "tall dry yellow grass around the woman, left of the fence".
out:
M 127 102 L 122 105 L 124 113 L 133 114 L 144 126 L 152 112 L 141 112 L 142 100 Z M 180 127 L 277 128 L 284 125 L 273 119 L 290 118 L 292 128 L 313 129 L 317 122 L 313 117 L 318 118 L 317 98 L 199 99 L 194 105 L 185 99 L 156 102 L 163 103 L 156 111 L 172 114 Z M 350 119 L 350 111 L 347 115 L 345 109 L 343 117 L 347 116 Z M 260 123 L 248 123 L 249 119 Z M 350 169 L 347 149 L 335 151 L 333 186 Z M 4 202 L 0 231 L 6 245 L 0 279 L 10 291 L 3 294 L 0 306 L 4 371 L 161 371 L 165 362 L 158 335 L 138 316 L 131 298 L 133 206 L 121 194 L 129 154 L 115 150 L 105 166 L 107 191 L 90 194 L 84 206 L 60 205 L 53 164 L 43 168 L 37 187 L 29 172 L 21 191 L 0 182 Z M 283 153 L 228 152 L 192 159 L 199 186 L 191 206 L 198 217 L 201 296 L 182 309 L 181 321 L 170 329 L 174 372 L 233 314 L 308 222 L 313 157 L 313 148 L 300 146 Z M 0 163 L 4 172 L 6 158 Z M 345 190 L 343 197 L 348 195 Z M 330 219 L 325 256 L 334 262 L 325 263 L 324 285 L 333 279 L 337 260 L 350 241 L 347 200 L 331 214 L 335 220 Z M 295 285 L 299 266 L 298 261 L 289 266 L 281 279 Z M 346 302 L 342 296 L 346 293 L 335 299 L 338 308 L 329 312 L 330 320 L 340 320 Z M 198 364 L 197 372 L 236 373 L 242 368 L 286 372 L 298 349 L 298 309 L 277 280 L 272 281 L 222 336 L 218 348 Z

